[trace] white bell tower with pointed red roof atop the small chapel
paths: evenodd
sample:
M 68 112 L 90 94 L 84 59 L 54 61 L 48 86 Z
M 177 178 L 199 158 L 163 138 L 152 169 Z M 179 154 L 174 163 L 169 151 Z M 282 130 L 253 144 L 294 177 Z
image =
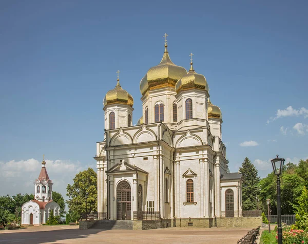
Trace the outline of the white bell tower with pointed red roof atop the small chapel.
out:
M 48 202 L 52 200 L 52 181 L 46 170 L 45 156 L 43 155 L 41 173 L 34 182 L 34 200 Z

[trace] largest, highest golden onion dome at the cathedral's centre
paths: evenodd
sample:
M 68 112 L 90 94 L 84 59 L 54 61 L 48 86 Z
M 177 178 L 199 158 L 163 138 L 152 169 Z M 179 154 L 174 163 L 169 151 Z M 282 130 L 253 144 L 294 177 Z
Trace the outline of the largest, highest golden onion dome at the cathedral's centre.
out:
M 161 87 L 175 87 L 177 81 L 187 73 L 186 69 L 172 63 L 165 44 L 165 52 L 159 65 L 151 67 L 140 81 L 140 92 L 143 95 L 148 90 Z

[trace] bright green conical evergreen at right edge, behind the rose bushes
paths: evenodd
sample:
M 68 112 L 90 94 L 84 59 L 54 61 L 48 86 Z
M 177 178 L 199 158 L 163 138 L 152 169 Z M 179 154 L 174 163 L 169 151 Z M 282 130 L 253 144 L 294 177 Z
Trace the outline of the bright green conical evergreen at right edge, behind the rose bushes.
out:
M 296 223 L 295 227 L 301 230 L 308 230 L 308 191 L 303 187 L 300 197 L 295 205 Z

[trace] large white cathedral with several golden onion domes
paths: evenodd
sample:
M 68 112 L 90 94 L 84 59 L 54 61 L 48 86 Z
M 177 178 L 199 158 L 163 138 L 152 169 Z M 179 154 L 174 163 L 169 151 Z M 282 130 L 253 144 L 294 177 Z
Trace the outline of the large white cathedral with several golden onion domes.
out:
M 134 126 L 133 98 L 119 73 L 104 98 L 104 140 L 94 157 L 98 212 L 112 220 L 154 215 L 172 226 L 241 217 L 242 180 L 228 173 L 221 110 L 192 60 L 188 72 L 172 63 L 165 41 L 163 58 L 141 79 L 140 91 L 142 117 Z

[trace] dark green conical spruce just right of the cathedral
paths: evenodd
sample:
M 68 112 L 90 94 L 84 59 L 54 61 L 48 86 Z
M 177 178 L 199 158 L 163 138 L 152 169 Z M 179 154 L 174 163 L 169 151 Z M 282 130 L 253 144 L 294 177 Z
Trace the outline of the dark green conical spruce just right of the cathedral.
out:
M 257 196 L 259 195 L 260 176 L 255 165 L 246 157 L 240 167 L 240 173 L 243 175 L 242 201 L 243 210 L 254 210 L 257 207 Z

